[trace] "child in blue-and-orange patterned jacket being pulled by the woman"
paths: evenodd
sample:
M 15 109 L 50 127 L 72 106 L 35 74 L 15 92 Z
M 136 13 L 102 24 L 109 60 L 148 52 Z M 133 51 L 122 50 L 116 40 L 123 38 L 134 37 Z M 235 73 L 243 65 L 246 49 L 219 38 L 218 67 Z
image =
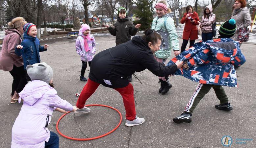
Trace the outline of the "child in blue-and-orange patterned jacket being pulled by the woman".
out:
M 220 101 L 215 108 L 224 111 L 233 110 L 222 86 L 237 87 L 233 65 L 239 66 L 245 62 L 239 43 L 229 39 L 236 31 L 235 23 L 234 19 L 224 22 L 220 26 L 218 39 L 196 43 L 168 63 L 172 64 L 176 60 L 184 61 L 183 69 L 175 74 L 199 82 L 185 111 L 180 116 L 173 118 L 175 123 L 190 123 L 195 107 L 211 88 L 214 89 Z

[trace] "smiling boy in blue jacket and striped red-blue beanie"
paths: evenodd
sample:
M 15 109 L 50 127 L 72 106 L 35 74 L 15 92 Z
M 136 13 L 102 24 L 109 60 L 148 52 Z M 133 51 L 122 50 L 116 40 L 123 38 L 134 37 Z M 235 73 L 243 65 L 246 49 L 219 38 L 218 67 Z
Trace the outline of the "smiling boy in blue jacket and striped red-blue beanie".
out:
M 18 56 L 22 55 L 24 69 L 26 71 L 26 79 L 28 82 L 31 82 L 30 77 L 28 76 L 26 67 L 27 65 L 33 65 L 35 63 L 40 63 L 39 52 L 46 51 L 49 45 L 45 44 L 40 46 L 39 40 L 37 38 L 37 26 L 32 23 L 27 23 L 23 27 L 24 40 L 20 45 L 16 46 L 15 53 Z

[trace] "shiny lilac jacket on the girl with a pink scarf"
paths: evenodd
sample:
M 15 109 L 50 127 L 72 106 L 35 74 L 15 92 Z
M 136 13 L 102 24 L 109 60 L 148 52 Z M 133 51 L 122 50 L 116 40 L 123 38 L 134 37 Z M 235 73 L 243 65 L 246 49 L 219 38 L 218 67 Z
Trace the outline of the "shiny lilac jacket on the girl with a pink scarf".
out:
M 79 36 L 76 39 L 76 52 L 81 57 L 82 61 L 85 61 L 85 62 L 91 61 L 96 52 L 95 39 L 92 35 L 88 35 L 90 36 L 90 38 L 92 38 L 92 40 L 87 41 L 90 50 L 86 52 L 84 38 L 81 36 L 85 36 L 85 35 L 81 31 L 79 31 Z

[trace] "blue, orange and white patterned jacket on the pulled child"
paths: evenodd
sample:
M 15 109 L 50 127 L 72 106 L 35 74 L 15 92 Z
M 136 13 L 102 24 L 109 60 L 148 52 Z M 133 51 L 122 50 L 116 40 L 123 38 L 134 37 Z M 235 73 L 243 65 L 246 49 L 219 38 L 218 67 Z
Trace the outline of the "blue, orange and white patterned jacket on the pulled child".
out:
M 182 75 L 202 84 L 237 87 L 237 75 L 233 65 L 242 65 L 245 57 L 238 42 L 229 38 L 218 38 L 195 43 L 190 49 L 174 57 L 167 66 L 177 60 L 187 61 L 189 69 L 178 69 L 175 75 Z

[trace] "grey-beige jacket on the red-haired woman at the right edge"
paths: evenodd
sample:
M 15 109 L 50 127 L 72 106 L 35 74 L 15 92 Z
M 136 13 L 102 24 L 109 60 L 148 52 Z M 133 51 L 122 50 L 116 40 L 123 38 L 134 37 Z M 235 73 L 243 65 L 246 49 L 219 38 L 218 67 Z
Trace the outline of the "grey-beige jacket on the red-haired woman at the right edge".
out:
M 237 30 L 231 39 L 238 41 L 238 32 L 240 27 L 248 27 L 251 24 L 251 16 L 247 7 L 234 10 L 231 18 L 236 20 Z

